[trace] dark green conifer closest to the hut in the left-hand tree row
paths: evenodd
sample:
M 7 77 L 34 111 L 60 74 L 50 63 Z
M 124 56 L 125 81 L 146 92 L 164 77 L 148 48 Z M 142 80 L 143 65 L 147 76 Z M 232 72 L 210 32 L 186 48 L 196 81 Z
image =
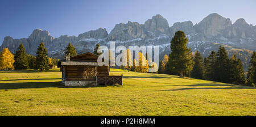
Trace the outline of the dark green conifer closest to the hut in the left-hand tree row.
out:
M 49 69 L 49 59 L 47 57 L 47 49 L 44 47 L 44 43 L 38 46 L 36 52 L 35 70 L 48 70 Z

